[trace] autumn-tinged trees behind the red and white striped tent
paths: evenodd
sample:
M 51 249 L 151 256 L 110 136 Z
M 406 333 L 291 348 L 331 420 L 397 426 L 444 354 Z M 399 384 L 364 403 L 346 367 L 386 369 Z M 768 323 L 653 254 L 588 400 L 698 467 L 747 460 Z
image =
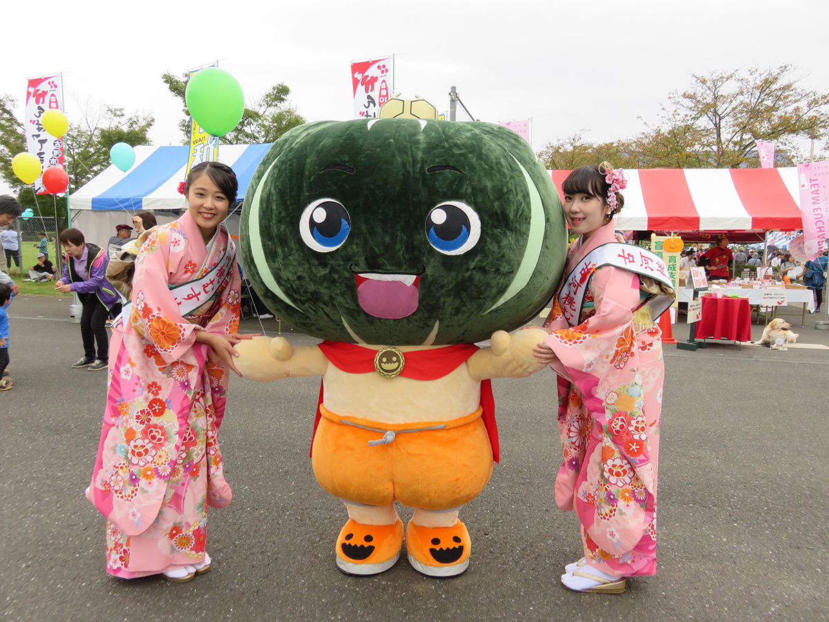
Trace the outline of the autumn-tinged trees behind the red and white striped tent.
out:
M 713 71 L 668 96 L 661 119 L 633 138 L 585 142 L 581 134 L 539 152 L 547 168 L 607 160 L 624 168 L 758 167 L 756 141 L 776 145 L 778 166 L 802 160 L 797 141 L 829 135 L 829 94 L 802 89 L 794 68 Z M 818 157 L 822 157 L 824 153 Z

